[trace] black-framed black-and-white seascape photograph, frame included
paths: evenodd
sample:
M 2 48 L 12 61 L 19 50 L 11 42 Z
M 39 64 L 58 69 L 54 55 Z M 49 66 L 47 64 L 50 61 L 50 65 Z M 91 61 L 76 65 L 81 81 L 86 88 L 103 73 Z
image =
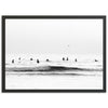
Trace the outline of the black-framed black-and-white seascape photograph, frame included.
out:
M 2 16 L 2 92 L 106 92 L 106 16 Z

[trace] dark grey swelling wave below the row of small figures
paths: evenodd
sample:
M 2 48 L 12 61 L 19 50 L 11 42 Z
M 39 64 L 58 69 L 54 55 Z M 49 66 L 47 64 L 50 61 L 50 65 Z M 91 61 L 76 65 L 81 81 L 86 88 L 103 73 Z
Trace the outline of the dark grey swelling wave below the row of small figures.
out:
M 6 67 L 6 71 L 103 71 L 103 68 L 66 67 L 66 66 L 38 66 L 38 67 Z

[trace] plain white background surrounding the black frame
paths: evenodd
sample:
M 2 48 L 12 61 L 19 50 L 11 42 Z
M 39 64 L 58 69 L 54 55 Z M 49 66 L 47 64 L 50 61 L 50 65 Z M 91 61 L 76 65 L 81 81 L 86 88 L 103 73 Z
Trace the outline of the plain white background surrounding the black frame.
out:
M 1 0 L 0 15 L 108 15 L 108 0 Z M 0 93 L 0 108 L 72 107 L 107 108 L 108 93 Z

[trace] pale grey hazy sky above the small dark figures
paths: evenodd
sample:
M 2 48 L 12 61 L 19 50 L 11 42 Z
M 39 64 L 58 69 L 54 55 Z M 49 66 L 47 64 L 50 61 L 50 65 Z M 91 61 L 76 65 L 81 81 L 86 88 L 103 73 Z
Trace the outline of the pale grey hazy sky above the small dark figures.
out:
M 6 54 L 103 54 L 103 19 L 6 19 Z

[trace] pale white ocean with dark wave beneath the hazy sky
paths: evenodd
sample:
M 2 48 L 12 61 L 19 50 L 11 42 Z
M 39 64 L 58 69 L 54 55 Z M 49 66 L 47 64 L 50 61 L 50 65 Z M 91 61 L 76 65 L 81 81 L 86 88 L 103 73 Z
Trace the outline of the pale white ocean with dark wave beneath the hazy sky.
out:
M 103 57 L 11 54 L 5 62 L 5 89 L 103 90 Z

